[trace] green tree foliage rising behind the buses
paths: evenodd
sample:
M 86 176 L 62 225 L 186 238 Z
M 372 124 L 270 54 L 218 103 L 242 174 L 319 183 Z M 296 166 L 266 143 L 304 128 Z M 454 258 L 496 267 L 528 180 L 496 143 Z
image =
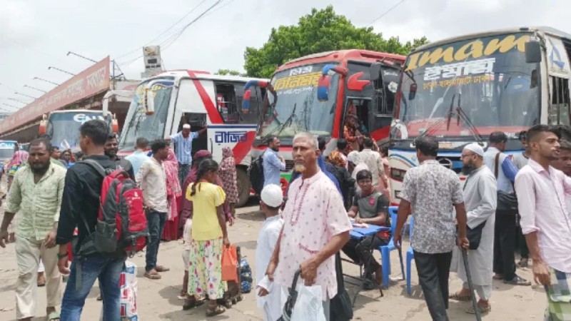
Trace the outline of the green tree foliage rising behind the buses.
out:
M 345 16 L 335 14 L 333 6 L 311 9 L 297 25 L 272 28 L 261 48 L 247 47 L 244 68 L 248 76 L 270 78 L 278 66 L 294 58 L 323 51 L 368 49 L 392 54 L 408 54 L 417 46 L 427 44 L 423 37 L 403 44 L 398 37 L 383 38 L 372 27 L 357 28 Z

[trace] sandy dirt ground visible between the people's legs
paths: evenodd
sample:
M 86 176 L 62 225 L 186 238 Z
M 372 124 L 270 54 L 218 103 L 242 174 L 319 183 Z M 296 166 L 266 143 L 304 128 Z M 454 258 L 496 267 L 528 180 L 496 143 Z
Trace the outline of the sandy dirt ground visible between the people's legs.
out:
M 4 188 L 4 186 L 2 186 Z M 0 189 L 2 189 L 0 188 Z M 1 192 L 0 192 L 1 194 Z M 255 200 L 251 205 L 256 204 Z M 242 254 L 248 260 L 253 270 L 256 251 L 256 238 L 258 230 L 263 223 L 263 215 L 256 212 L 257 206 L 238 209 L 236 225 L 229 229 L 230 240 L 242 249 Z M 4 210 L 0 209 L 0 216 Z M 405 244 L 404 248 L 408 248 Z M 183 262 L 181 258 L 182 245 L 180 241 L 161 243 L 158 254 L 158 263 L 171 267 L 170 272 L 162 273 L 161 280 L 148 280 L 143 277 L 144 254 L 138 253 L 132 262 L 138 266 L 138 315 L 139 320 L 206 320 L 206 307 L 198 307 L 191 311 L 183 311 L 183 301 L 177 296 L 181 290 L 183 277 Z M 403 253 L 404 254 L 404 253 Z M 18 275 L 14 244 L 7 248 L 0 248 L 3 264 L 0 265 L 0 320 L 15 320 L 16 302 L 14 290 Z M 378 253 L 375 253 L 380 258 Z M 355 317 L 353 320 L 430 320 L 430 315 L 423 299 L 422 291 L 418 286 L 418 277 L 415 267 L 412 268 L 413 294 L 406 295 L 406 282 L 396 281 L 401 277 L 398 253 L 393 251 L 390 257 L 392 275 L 395 279 L 385 296 L 380 297 L 378 290 L 363 291 L 355 302 Z M 414 261 L 413 261 L 414 262 Z M 414 264 L 414 263 L 413 263 Z M 357 275 L 358 268 L 344 263 L 344 272 Z M 518 270 L 518 274 L 530 280 L 529 269 Z M 461 281 L 454 273 L 450 275 L 450 291 L 458 290 Z M 94 285 L 81 320 L 99 320 L 101 302 L 96 301 L 98 295 L 97 284 Z M 355 287 L 346 284 L 349 294 L 353 297 Z M 45 320 L 46 291 L 45 287 L 38 290 L 37 317 L 34 320 Z M 494 281 L 494 290 L 491 298 L 492 312 L 483 317 L 484 320 L 542 320 L 545 310 L 546 297 L 542 287 L 514 287 Z M 470 306 L 469 302 L 450 302 L 448 315 L 450 320 L 475 320 L 473 315 L 464 311 Z M 244 300 L 233 306 L 225 314 L 211 318 L 211 320 L 263 320 L 262 313 L 256 308 L 254 292 L 246 294 Z

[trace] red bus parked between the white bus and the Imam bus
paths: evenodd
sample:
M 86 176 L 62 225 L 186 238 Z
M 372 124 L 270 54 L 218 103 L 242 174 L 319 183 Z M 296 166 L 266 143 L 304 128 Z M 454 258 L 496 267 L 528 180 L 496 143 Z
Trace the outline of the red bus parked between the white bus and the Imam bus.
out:
M 343 137 L 353 109 L 377 143 L 388 138 L 400 68 L 405 56 L 360 49 L 328 51 L 288 61 L 273 74 L 253 146 L 253 157 L 265 150 L 266 138 L 277 136 L 285 159 L 282 177 L 290 180 L 295 133 L 325 138 L 325 155 Z

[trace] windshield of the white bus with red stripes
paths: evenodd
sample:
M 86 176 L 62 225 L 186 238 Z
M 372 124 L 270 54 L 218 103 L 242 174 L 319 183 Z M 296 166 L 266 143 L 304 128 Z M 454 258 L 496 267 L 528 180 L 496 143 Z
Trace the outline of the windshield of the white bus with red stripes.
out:
M 150 88 L 148 88 L 149 85 Z M 137 87 L 119 138 L 119 151 L 134 151 L 137 138 L 146 138 L 148 141 L 163 138 L 173 85 L 173 79 L 164 78 L 146 81 Z M 143 106 L 145 93 L 148 90 L 154 96 L 155 113 L 152 115 L 147 115 Z

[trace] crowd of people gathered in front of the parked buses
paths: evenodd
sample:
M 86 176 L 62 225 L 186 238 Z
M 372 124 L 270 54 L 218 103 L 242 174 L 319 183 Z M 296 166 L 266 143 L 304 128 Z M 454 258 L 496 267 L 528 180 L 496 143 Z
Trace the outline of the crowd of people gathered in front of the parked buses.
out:
M 123 170 L 143 192 L 148 224 L 144 277 L 157 280 L 169 270 L 158 264 L 161 239 L 183 238 L 183 309 L 206 303 L 207 316 L 225 312 L 218 302 L 226 291 L 221 257 L 230 245 L 228 227 L 234 223 L 238 202 L 236 163 L 231 148 L 223 149 L 221 163 L 209 151 L 193 153 L 192 141 L 202 132 L 184 125 L 181 133 L 165 140 L 149 143 L 139 138 L 136 152 L 120 158 L 117 136 L 109 134 L 106 123 L 87 121 L 79 133 L 83 154 L 75 160 L 46 138 L 32 141 L 29 153 L 14 157 L 18 168 L 4 205 L 0 245 L 4 248 L 11 241 L 9 226 L 17 213 L 18 320 L 35 315 L 41 263 L 48 320 L 79 320 L 96 280 L 103 320 L 119 320 L 119 277 L 127 254 L 122 249 L 86 250 L 96 240 L 103 183 L 93 162 L 104 170 Z M 363 265 L 370 289 L 382 287 L 383 269 L 371 249 L 391 238 L 400 247 L 409 216 L 414 220 L 410 244 L 418 280 L 433 320 L 448 320 L 448 300 L 469 301 L 473 295 L 477 305 L 466 312 L 490 312 L 493 280 L 531 285 L 516 273 L 529 259 L 535 282 L 547 292 L 546 320 L 569 320 L 568 133 L 567 128 L 534 126 L 520 135 L 525 151 L 513 158 L 505 153 L 505 133 L 492 133 L 487 148 L 470 143 L 461 156 L 465 182 L 437 161 L 435 138 L 417 138 L 419 165 L 405 174 L 393 235 L 386 229 L 391 226 L 386 149 L 379 149 L 370 137 L 359 136 L 356 144 L 340 138 L 325 157 L 324 139 L 298 133 L 293 138 L 293 175 L 284 197 L 280 175 L 285 160 L 278 153 L 279 138 L 269 137 L 260 195 L 265 222 L 256 248 L 256 292 L 264 320 L 281 317 L 283 297 L 297 272 L 303 285 L 320 288 L 325 320 L 348 320 L 340 317 L 352 311 L 342 311 L 350 307 L 343 304 L 339 253 Z M 176 149 L 170 141 L 176 142 Z M 353 226 L 363 224 L 386 228 L 363 239 L 351 238 Z M 516 248 L 521 253 L 517 264 Z M 469 287 L 465 258 L 475 293 Z M 450 271 L 463 280 L 463 286 L 451 293 Z M 62 274 L 69 275 L 65 290 Z

